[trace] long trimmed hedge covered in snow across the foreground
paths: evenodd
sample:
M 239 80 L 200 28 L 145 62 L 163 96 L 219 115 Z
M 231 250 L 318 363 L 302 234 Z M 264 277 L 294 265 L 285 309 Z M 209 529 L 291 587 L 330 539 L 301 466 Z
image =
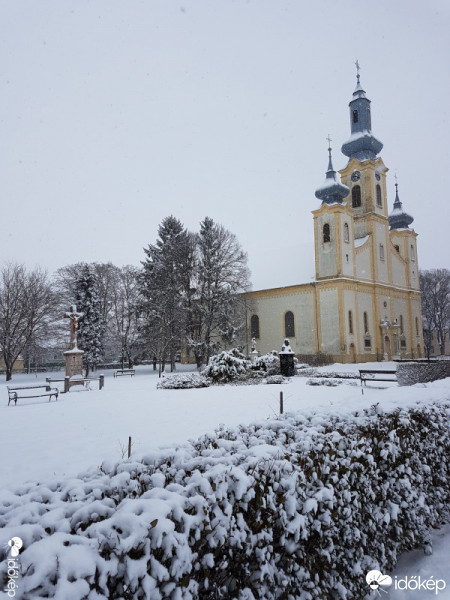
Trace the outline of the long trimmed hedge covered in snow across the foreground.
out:
M 445 516 L 449 416 L 284 415 L 0 492 L 0 548 L 23 540 L 16 598 L 363 598 L 365 574 Z

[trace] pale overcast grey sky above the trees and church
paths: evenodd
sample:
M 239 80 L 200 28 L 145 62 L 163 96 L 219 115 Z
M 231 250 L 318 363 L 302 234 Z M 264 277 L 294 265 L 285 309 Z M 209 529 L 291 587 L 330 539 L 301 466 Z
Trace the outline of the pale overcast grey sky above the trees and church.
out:
M 314 191 L 361 83 L 415 218 L 449 265 L 448 0 L 1 0 L 0 262 L 139 265 L 161 220 L 210 216 L 254 289 L 314 276 Z

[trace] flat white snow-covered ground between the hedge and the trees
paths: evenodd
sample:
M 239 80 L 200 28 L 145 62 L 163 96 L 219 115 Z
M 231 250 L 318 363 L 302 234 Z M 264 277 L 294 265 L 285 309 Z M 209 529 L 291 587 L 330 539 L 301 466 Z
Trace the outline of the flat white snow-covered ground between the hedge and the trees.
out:
M 321 370 L 356 373 L 358 366 L 332 365 Z M 379 364 L 372 366 L 380 368 Z M 394 368 L 394 364 L 384 363 L 383 368 L 387 367 Z M 46 374 L 15 375 L 11 385 L 36 385 L 44 382 L 45 377 Z M 22 399 L 17 406 L 7 406 L 3 376 L 0 380 L 2 488 L 13 489 L 27 480 L 73 477 L 81 471 L 98 469 L 104 460 L 119 461 L 126 451 L 128 436 L 132 437 L 132 452 L 138 457 L 161 447 L 183 444 L 189 438 L 212 432 L 221 423 L 234 426 L 273 417 L 279 412 L 280 391 L 284 394 L 285 412 L 321 414 L 349 413 L 375 403 L 391 409 L 417 401 L 450 398 L 450 379 L 413 387 L 368 383 L 364 394 L 359 381 L 344 381 L 337 387 L 310 386 L 307 378 L 302 377 L 292 378 L 281 386 L 226 385 L 198 390 L 158 390 L 157 382 L 157 373 L 151 367 L 138 368 L 133 378 L 114 379 L 112 372 L 106 371 L 101 391 L 60 394 L 56 402 L 48 402 L 46 398 Z M 447 578 L 448 588 L 439 593 L 439 598 L 450 599 L 450 527 L 436 533 L 434 546 L 430 557 L 425 557 L 422 551 L 403 557 L 392 577 Z M 403 592 L 391 586 L 386 597 L 420 600 L 428 598 L 429 593 Z

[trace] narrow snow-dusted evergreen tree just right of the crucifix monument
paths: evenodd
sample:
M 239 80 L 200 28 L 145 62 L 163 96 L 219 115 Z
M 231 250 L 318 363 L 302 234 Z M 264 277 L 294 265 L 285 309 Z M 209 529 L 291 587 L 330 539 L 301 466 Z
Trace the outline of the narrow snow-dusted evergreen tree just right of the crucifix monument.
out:
M 84 350 L 83 362 L 86 377 L 94 370 L 103 355 L 104 321 L 97 290 L 96 278 L 89 265 L 81 267 L 76 282 L 77 310 L 83 313 L 78 325 L 78 343 Z

